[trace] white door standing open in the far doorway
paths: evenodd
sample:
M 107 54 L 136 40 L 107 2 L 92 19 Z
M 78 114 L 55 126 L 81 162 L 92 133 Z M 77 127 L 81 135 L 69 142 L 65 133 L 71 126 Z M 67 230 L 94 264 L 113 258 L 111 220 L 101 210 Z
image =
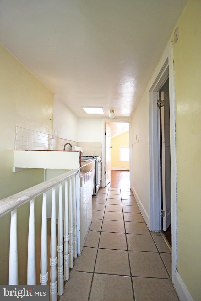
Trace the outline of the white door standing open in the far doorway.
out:
M 105 186 L 107 186 L 110 181 L 110 127 L 108 124 L 105 126 Z

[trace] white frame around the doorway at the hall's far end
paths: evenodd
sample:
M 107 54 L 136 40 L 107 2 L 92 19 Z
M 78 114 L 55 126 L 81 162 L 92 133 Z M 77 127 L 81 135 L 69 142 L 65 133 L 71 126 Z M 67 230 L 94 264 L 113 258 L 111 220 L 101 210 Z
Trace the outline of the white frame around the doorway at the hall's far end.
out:
M 105 124 L 106 122 L 128 122 L 129 123 L 129 170 L 130 170 L 130 189 L 132 187 L 132 133 L 131 133 L 131 119 L 111 119 L 111 118 L 103 118 L 102 119 L 102 129 L 103 129 L 103 137 L 102 137 L 102 181 L 101 187 L 105 187 Z M 103 168 L 104 166 L 104 168 Z M 103 181 L 104 179 L 104 181 Z

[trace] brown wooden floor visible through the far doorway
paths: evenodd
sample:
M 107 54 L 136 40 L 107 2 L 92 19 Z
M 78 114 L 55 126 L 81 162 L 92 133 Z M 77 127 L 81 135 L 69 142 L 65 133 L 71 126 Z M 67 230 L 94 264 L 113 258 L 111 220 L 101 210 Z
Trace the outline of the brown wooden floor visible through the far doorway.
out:
M 130 188 L 129 170 L 111 170 L 111 182 L 107 187 Z

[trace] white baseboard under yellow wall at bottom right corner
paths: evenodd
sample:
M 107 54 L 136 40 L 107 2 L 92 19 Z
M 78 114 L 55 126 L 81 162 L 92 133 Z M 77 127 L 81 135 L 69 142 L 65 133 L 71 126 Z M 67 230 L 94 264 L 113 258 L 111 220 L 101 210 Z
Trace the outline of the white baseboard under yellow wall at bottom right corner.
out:
M 189 293 L 185 283 L 182 280 L 182 277 L 180 276 L 177 270 L 175 270 L 175 272 L 172 275 L 172 282 L 174 284 L 179 300 L 193 301 L 191 294 Z

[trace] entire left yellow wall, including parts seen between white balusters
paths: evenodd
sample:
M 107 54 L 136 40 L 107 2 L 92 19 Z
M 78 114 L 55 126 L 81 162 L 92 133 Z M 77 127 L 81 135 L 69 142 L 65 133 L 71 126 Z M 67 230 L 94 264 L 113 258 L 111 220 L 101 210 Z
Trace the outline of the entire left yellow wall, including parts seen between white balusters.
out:
M 53 93 L 33 76 L 13 55 L 0 45 L 0 199 L 43 181 L 43 170 L 13 172 L 15 126 L 52 134 Z M 26 245 L 29 206 L 18 210 L 19 284 L 25 284 Z M 37 219 L 41 202 L 36 204 Z M 8 283 L 10 214 L 0 218 L 0 284 Z M 2 231 L 3 229 L 3 231 Z M 36 232 L 40 232 L 40 225 Z

